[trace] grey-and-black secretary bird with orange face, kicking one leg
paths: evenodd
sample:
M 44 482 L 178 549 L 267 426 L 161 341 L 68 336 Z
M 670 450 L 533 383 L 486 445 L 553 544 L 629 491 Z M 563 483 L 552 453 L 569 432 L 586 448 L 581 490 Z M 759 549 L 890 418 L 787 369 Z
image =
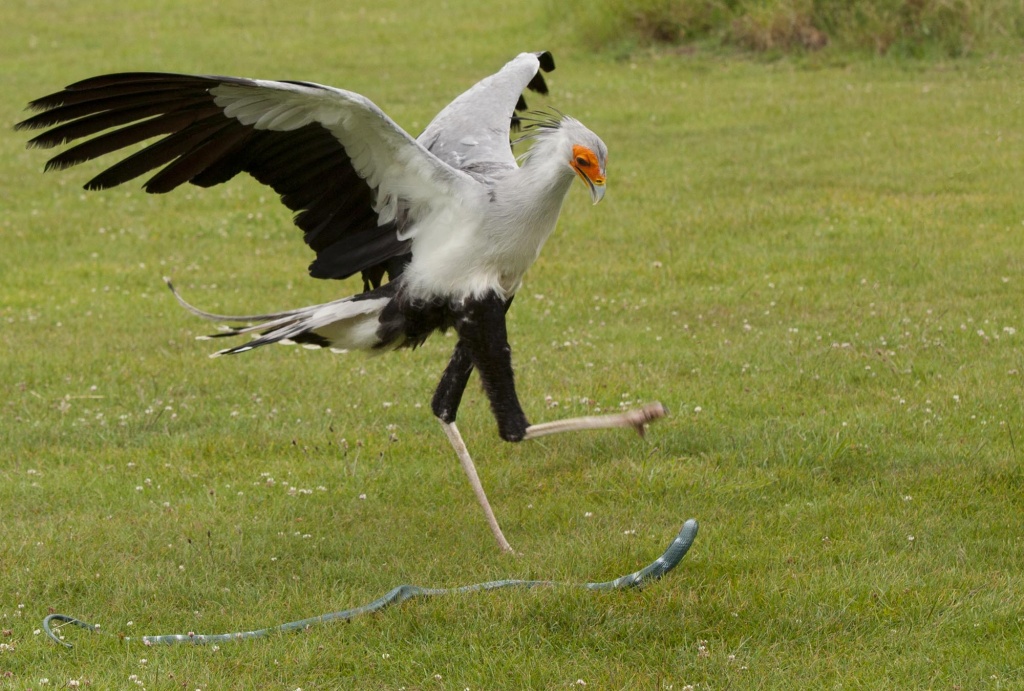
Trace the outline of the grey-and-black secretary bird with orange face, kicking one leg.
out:
M 522 53 L 460 95 L 417 138 L 365 96 L 309 82 L 124 73 L 77 82 L 30 103 L 16 129 L 46 129 L 30 146 L 87 139 L 50 159 L 63 169 L 154 137 L 85 184 L 104 189 L 160 169 L 144 184 L 167 192 L 248 173 L 296 213 L 316 253 L 315 278 L 359 272 L 362 292 L 322 305 L 249 315 L 215 336 L 254 339 L 215 355 L 297 342 L 383 352 L 454 329 L 455 352 L 431 407 L 455 448 L 488 525 L 511 551 L 480 484 L 456 413 L 473 370 L 506 441 L 575 429 L 633 427 L 664 417 L 659 403 L 621 415 L 530 425 L 519 404 L 505 314 L 541 252 L 573 179 L 597 204 L 607 148 L 579 121 L 528 112 L 522 93 L 546 94 L 549 52 Z M 48 128 L 48 129 L 47 129 Z M 522 129 L 510 141 L 511 131 Z M 109 131 L 108 131 L 109 130 Z M 512 144 L 530 148 L 517 162 Z M 521 165 L 520 165 L 521 162 Z M 385 275 L 387 282 L 384 280 Z M 168 280 L 170 286 L 170 280 Z M 174 291 L 173 286 L 170 286 Z

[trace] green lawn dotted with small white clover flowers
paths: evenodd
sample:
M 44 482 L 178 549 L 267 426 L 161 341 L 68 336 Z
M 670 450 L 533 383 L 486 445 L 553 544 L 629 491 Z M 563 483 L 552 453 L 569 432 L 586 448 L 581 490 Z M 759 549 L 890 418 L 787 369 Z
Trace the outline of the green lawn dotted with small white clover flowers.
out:
M 510 445 L 474 384 L 460 427 L 521 552 L 502 556 L 429 414 L 450 339 L 210 360 L 162 275 L 222 311 L 355 286 L 304 277 L 255 184 L 87 195 L 96 167 L 44 176 L 8 130 L 0 686 L 1024 685 L 1020 60 L 615 61 L 543 3 L 454 4 L 7 3 L 0 121 L 161 69 L 345 86 L 418 130 L 550 48 L 534 101 L 602 135 L 609 191 L 573 190 L 510 313 L 520 394 L 538 422 L 655 399 L 672 417 L 644 441 Z M 221 633 L 402 582 L 610 578 L 690 516 L 690 555 L 639 593 L 412 602 L 217 650 L 35 634 L 52 610 Z

